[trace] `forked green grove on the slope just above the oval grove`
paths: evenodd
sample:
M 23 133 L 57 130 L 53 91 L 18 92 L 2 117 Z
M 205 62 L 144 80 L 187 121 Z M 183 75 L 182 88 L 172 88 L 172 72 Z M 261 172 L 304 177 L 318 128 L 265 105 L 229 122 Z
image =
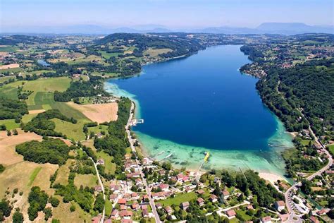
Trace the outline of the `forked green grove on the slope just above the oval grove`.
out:
M 37 114 L 37 116 L 32 118 L 26 125 L 22 125 L 22 128 L 26 132 L 31 131 L 38 135 L 66 137 L 66 135 L 54 131 L 56 124 L 50 119 L 61 119 L 70 123 L 77 123 L 76 119 L 68 118 L 61 114 L 61 111 L 58 109 L 51 109 Z

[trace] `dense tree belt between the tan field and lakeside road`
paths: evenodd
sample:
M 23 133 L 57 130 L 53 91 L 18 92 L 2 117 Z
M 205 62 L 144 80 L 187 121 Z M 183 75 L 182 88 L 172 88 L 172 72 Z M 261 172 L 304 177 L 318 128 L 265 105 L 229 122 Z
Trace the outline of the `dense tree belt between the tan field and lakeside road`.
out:
M 118 119 L 109 123 L 109 134 L 103 139 L 95 138 L 94 146 L 97 150 L 104 150 L 113 157 L 116 163 L 116 174 L 120 174 L 123 166 L 125 149 L 129 146 L 125 133 L 125 125 L 130 116 L 131 101 L 127 97 L 121 97 L 118 102 Z

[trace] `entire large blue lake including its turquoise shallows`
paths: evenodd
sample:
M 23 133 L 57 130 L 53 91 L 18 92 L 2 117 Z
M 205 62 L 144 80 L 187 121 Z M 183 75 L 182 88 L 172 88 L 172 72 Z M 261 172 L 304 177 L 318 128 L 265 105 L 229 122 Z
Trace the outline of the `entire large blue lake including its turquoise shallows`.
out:
M 144 66 L 140 76 L 113 79 L 106 90 L 137 104 L 144 151 L 177 166 L 255 169 L 282 175 L 280 152 L 291 147 L 282 123 L 261 103 L 240 46 L 211 47 L 185 59 Z M 168 157 L 168 158 L 166 158 Z

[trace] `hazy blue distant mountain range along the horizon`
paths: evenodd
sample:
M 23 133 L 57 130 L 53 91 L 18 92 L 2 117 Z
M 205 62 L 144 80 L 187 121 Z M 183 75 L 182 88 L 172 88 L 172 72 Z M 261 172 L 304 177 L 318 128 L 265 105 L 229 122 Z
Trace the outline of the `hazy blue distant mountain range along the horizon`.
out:
M 2 28 L 1 33 L 54 33 L 54 34 L 91 34 L 106 35 L 116 32 L 204 32 L 223 34 L 281 34 L 296 35 L 310 32 L 334 34 L 334 26 L 307 25 L 304 23 L 262 23 L 257 28 L 237 28 L 230 26 L 203 29 L 168 29 L 162 25 L 138 25 L 124 28 L 106 28 L 100 25 L 70 25 L 48 27 Z

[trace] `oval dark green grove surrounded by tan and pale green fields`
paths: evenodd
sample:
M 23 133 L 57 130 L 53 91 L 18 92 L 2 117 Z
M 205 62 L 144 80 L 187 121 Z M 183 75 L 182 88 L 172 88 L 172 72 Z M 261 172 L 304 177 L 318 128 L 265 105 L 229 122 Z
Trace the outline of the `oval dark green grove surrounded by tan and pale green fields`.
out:
M 74 147 L 74 146 L 73 146 Z M 65 164 L 68 152 L 73 148 L 68 147 L 63 140 L 47 138 L 39 142 L 32 140 L 16 145 L 16 152 L 23 155 L 23 159 L 36 163 Z

